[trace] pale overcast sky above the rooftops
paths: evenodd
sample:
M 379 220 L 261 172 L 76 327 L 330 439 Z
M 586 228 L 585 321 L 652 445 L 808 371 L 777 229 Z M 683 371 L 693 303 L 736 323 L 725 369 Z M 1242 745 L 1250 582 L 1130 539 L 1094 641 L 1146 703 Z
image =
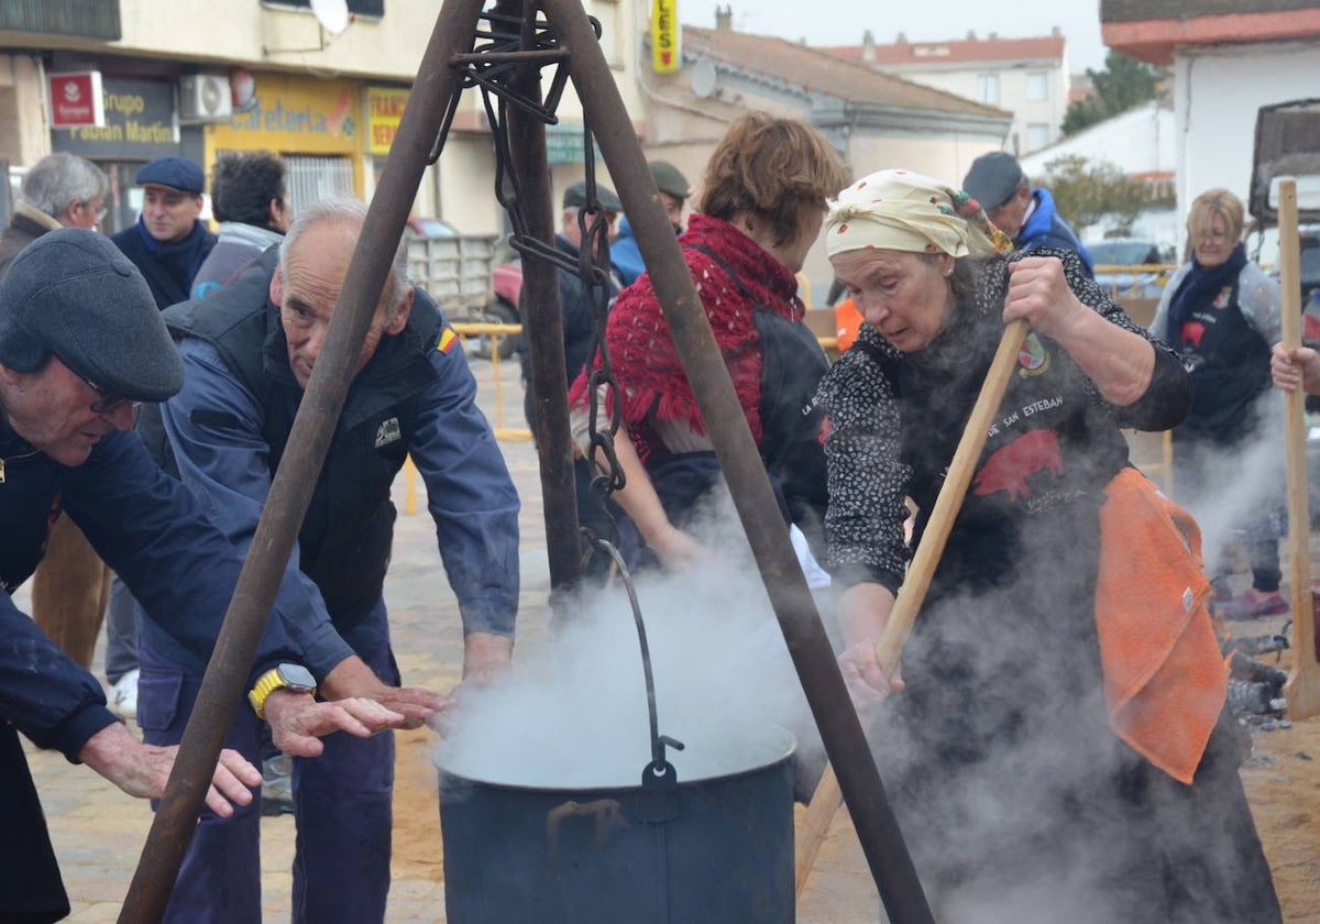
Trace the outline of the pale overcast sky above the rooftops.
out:
M 908 41 L 978 38 L 991 32 L 1001 38 L 1048 36 L 1059 26 L 1068 40 L 1068 65 L 1074 73 L 1105 63 L 1100 41 L 1098 0 L 1052 3 L 993 3 L 987 0 L 929 0 L 906 4 L 810 3 L 810 0 L 677 0 L 678 21 L 711 29 L 715 7 L 729 5 L 734 29 L 758 36 L 779 36 L 808 45 L 861 45 L 871 30 L 876 42 L 892 42 L 898 33 Z

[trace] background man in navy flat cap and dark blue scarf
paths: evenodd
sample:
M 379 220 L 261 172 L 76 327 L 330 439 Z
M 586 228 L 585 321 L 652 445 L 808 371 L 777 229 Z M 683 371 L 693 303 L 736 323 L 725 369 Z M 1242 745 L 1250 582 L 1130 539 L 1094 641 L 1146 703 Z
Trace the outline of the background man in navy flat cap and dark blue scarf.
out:
M 161 157 L 137 172 L 143 213 L 111 236 L 147 279 L 157 308 L 186 301 L 215 235 L 202 223 L 202 168 L 183 157 Z

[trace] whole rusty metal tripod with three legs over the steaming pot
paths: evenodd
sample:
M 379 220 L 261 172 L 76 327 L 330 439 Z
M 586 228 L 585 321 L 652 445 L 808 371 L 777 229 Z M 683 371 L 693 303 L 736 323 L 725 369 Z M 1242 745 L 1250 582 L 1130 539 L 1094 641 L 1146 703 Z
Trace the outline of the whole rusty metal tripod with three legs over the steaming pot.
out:
M 202 808 L 211 768 L 235 709 L 244 702 L 251 669 L 280 578 L 292 553 L 343 407 L 354 362 L 384 286 L 422 172 L 434 160 L 465 86 L 500 84 L 520 102 L 508 111 L 508 147 L 528 236 L 552 240 L 545 115 L 540 70 L 557 65 L 550 103 L 572 78 L 586 123 L 610 169 L 624 213 L 651 272 L 665 321 L 708 422 L 738 516 L 788 651 L 807 693 L 871 874 L 895 924 L 931 921 L 861 723 L 849 701 L 816 605 L 788 540 L 770 479 L 701 309 L 696 286 L 659 203 L 655 182 L 632 136 L 631 121 L 591 21 L 579 0 L 446 0 L 424 54 L 362 236 L 348 265 L 325 345 L 298 409 L 285 453 L 226 614 L 197 708 L 183 733 L 165 799 L 148 834 L 120 913 L 121 924 L 158 921 Z M 544 11 L 544 20 L 539 13 Z M 487 22 L 490 30 L 479 29 Z M 517 36 L 517 42 L 511 40 Z M 512 98 L 512 96 L 511 96 Z M 502 183 L 503 186 L 503 183 Z M 502 194 L 507 190 L 500 190 Z M 549 244 L 546 244 L 549 247 Z M 531 249 L 536 249 L 531 247 Z M 565 395 L 565 364 L 554 267 L 524 267 L 532 388 L 540 425 L 539 453 L 546 548 L 554 587 L 577 578 L 577 508 Z

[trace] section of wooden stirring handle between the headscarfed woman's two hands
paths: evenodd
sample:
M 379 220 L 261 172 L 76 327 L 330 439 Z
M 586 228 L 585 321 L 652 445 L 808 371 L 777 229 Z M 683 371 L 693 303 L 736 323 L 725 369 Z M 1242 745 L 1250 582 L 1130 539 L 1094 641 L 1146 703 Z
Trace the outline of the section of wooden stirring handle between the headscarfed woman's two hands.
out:
M 949 463 L 949 474 L 940 488 L 940 496 L 931 510 L 931 519 L 921 533 L 916 554 L 908 566 L 903 586 L 899 589 L 898 599 L 894 601 L 894 610 L 884 623 L 884 631 L 879 642 L 875 643 L 875 659 L 880 664 L 884 676 L 891 676 L 903 656 L 903 645 L 908 635 L 912 634 L 912 623 L 925 601 L 925 591 L 931 589 L 931 578 L 944 554 L 944 546 L 949 541 L 949 531 L 962 508 L 962 499 L 972 484 L 972 474 L 975 471 L 981 450 L 985 449 L 990 424 L 999 412 L 999 403 L 1008 388 L 1008 379 L 1012 376 L 1014 363 L 1022 351 L 1022 343 L 1027 339 L 1030 330 L 1027 321 L 1019 318 L 1008 322 L 999 338 L 999 348 L 990 362 L 990 371 L 986 372 L 985 384 L 981 385 L 981 395 L 972 408 L 968 425 L 962 429 L 962 438 L 953 453 L 953 462 Z

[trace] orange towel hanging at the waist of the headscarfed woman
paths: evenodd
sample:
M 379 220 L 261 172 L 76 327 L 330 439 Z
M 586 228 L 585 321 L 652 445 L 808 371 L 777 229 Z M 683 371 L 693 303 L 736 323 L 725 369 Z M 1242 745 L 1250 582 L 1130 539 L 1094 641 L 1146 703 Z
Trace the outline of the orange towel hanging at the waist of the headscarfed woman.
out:
M 1096 627 L 1109 725 L 1191 784 L 1229 673 L 1210 620 L 1201 531 L 1135 469 L 1119 471 L 1105 492 Z

